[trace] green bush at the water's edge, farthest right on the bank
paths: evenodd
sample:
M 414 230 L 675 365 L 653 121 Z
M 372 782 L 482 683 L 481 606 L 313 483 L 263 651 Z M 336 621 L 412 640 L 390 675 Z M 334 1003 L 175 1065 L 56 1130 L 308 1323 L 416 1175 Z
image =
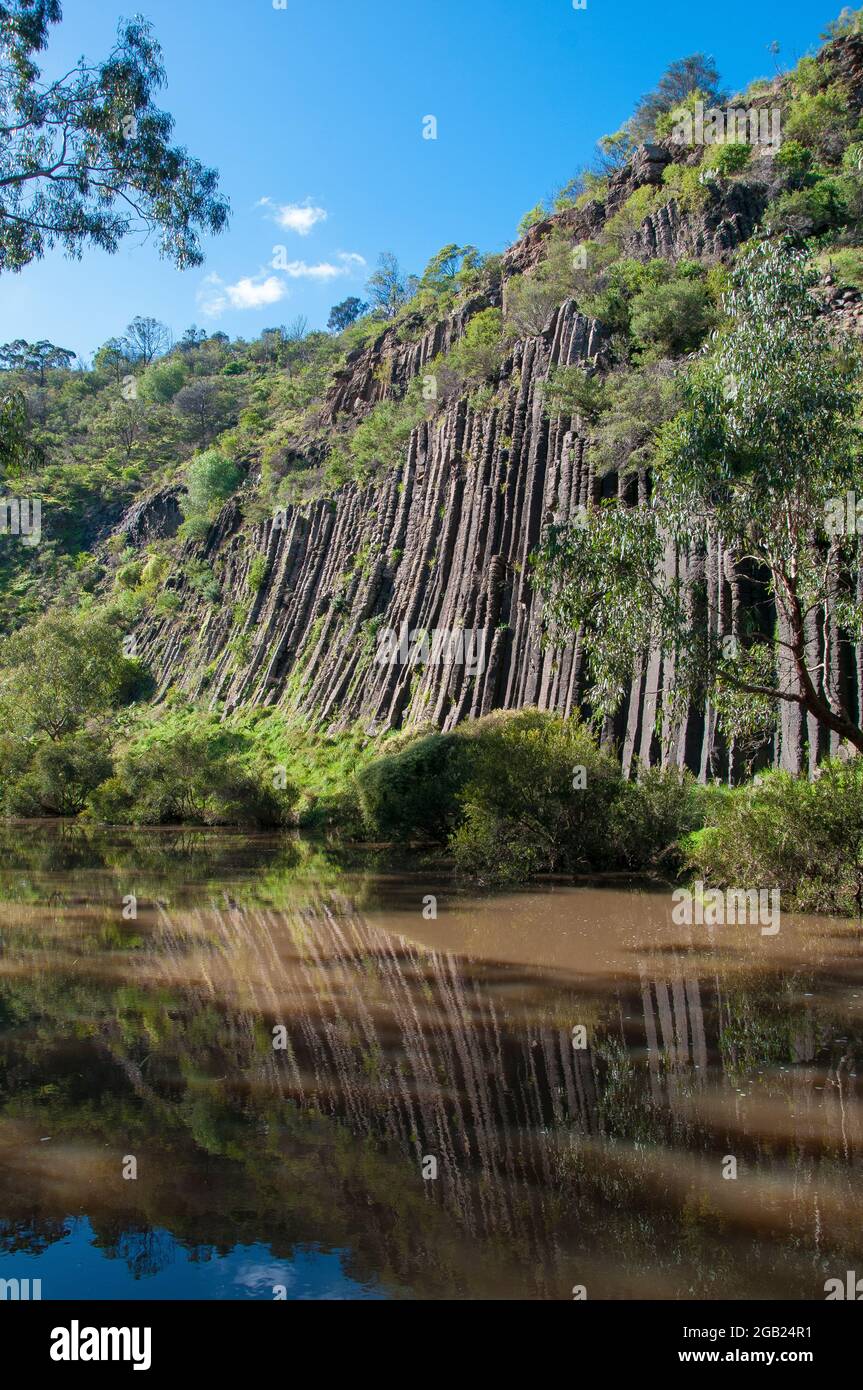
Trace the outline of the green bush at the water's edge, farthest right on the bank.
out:
M 863 908 L 863 759 L 824 763 L 814 781 L 769 773 L 718 803 L 689 837 L 688 865 L 720 888 L 774 888 L 785 909 Z

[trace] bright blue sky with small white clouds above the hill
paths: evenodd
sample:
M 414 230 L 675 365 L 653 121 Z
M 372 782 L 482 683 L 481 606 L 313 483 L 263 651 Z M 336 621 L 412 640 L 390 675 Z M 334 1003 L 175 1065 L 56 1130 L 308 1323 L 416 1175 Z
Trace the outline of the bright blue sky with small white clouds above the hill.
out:
M 281 0 L 278 0 L 281 3 Z M 64 0 L 44 71 L 103 57 L 140 10 L 175 139 L 221 172 L 229 229 L 179 272 L 151 245 L 4 275 L 0 341 L 90 354 L 135 314 L 253 338 L 363 292 L 381 250 L 421 272 L 446 242 L 502 250 L 673 58 L 730 89 L 792 65 L 841 3 L 723 0 Z M 435 115 L 438 139 L 422 138 Z M 268 200 L 268 202 L 263 202 Z M 286 210 L 286 211 L 285 211 Z M 299 210 L 299 211 L 297 211 Z M 279 221 L 281 220 L 281 221 Z M 274 270 L 274 247 L 288 270 Z M 365 264 L 364 264 L 365 263 Z

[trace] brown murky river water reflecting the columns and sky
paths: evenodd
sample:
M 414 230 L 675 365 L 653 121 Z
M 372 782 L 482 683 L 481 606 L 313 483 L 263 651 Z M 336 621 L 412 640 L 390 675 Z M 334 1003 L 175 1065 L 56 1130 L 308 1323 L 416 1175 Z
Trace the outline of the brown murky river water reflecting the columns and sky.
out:
M 471 898 L 267 837 L 0 838 L 0 1277 L 821 1300 L 863 1272 L 856 923 Z

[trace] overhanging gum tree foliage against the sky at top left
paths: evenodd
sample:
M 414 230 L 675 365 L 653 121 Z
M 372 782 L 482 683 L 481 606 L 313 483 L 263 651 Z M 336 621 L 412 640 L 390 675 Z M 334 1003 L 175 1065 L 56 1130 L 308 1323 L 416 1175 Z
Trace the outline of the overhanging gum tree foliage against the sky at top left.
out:
M 151 26 L 121 22 L 103 63 L 82 58 L 46 82 L 35 56 L 61 18 L 60 0 L 0 3 L 0 270 L 53 246 L 115 252 L 131 232 L 156 234 L 181 268 L 199 265 L 200 235 L 222 231 L 228 204 L 217 172 L 171 145 Z

